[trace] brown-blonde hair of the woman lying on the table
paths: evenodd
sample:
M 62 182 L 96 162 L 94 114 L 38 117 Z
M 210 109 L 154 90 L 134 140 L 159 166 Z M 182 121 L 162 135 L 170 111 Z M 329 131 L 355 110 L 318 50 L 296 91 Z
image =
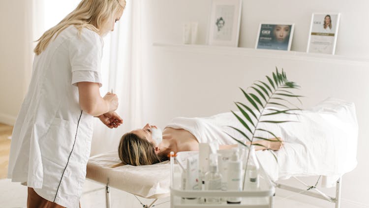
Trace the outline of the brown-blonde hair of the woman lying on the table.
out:
M 152 165 L 168 160 L 167 156 L 156 154 L 154 145 L 147 139 L 140 138 L 134 133 L 123 135 L 119 143 L 118 155 L 122 162 L 112 168 L 122 165 Z

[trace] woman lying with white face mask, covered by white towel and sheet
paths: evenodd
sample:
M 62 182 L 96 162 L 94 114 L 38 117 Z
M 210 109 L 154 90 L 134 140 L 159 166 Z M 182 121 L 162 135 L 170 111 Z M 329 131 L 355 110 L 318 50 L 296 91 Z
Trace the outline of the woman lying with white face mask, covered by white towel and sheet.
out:
M 272 110 L 265 109 L 264 112 L 267 114 Z M 353 103 L 329 98 L 307 110 L 295 113 L 299 115 L 279 114 L 264 119 L 297 122 L 258 124 L 258 128 L 272 131 L 282 141 L 253 141 L 265 148 L 277 150 L 274 153 L 278 163 L 271 153 L 258 151 L 256 154 L 273 180 L 289 178 L 291 174 L 341 176 L 356 167 L 358 123 Z M 147 124 L 142 129 L 123 135 L 118 149 L 122 160 L 120 165 L 158 163 L 167 160 L 170 151 L 198 150 L 199 143 L 217 141 L 219 149 L 233 148 L 237 142 L 227 133 L 240 140 L 244 137 L 227 126 L 245 129 L 232 113 L 208 118 L 180 117 L 166 125 L 160 141 L 157 139 L 160 137 L 155 136 L 157 128 Z M 246 129 L 244 132 L 250 136 Z M 266 132 L 258 132 L 255 136 L 274 138 Z M 255 148 L 265 149 L 262 146 Z

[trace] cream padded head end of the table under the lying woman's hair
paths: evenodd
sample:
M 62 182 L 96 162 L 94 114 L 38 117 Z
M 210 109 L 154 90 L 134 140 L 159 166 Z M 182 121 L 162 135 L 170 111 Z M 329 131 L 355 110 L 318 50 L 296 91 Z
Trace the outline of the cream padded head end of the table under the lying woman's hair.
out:
M 170 166 L 168 161 L 143 166 L 124 165 L 111 168 L 120 163 L 118 152 L 108 152 L 92 156 L 87 163 L 86 178 L 109 185 L 128 193 L 145 198 L 169 196 Z

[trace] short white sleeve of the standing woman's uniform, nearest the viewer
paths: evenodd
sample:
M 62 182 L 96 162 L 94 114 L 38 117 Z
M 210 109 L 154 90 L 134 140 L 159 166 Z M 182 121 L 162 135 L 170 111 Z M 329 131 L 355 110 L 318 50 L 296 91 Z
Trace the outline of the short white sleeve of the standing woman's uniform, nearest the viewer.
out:
M 78 82 L 95 82 L 101 87 L 102 39 L 94 31 L 82 29 L 80 35 L 70 40 L 69 60 L 72 85 Z

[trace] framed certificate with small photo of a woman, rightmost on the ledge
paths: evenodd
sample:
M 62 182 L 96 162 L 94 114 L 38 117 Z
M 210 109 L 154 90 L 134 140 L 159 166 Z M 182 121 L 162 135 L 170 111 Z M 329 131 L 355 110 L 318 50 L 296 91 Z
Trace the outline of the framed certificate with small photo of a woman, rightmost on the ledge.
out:
M 307 53 L 335 54 L 339 13 L 313 13 Z

